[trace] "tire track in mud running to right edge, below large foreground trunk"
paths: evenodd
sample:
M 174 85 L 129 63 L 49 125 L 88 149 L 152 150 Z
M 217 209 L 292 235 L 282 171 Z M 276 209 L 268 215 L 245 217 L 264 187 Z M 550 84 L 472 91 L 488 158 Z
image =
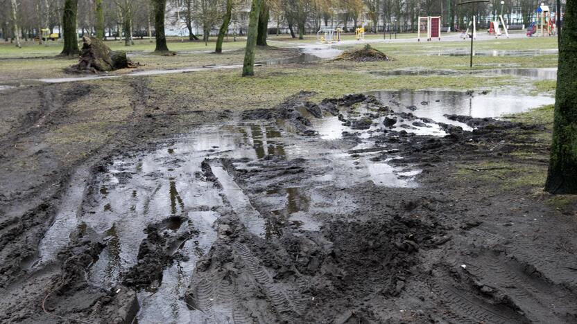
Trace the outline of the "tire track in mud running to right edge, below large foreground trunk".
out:
M 492 240 L 499 244 L 503 244 L 503 246 L 506 246 L 506 249 L 520 262 L 535 267 L 539 273 L 541 273 L 545 278 L 553 281 L 553 283 L 565 283 L 569 285 L 571 289 L 577 289 L 577 271 L 571 270 L 577 269 L 577 264 L 567 264 L 565 258 L 554 256 L 554 253 L 546 251 L 541 246 L 521 241 L 509 244 L 510 240 L 507 240 L 505 237 L 483 231 L 479 228 L 474 228 L 470 230 L 469 233 L 472 233 L 483 240 Z M 536 253 L 528 254 L 525 251 L 535 251 Z

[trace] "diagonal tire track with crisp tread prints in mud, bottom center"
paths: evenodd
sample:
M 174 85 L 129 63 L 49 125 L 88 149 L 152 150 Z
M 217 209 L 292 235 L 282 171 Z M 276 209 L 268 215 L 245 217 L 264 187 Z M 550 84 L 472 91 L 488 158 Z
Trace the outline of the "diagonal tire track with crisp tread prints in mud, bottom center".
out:
M 261 266 L 260 260 L 252 255 L 245 244 L 234 242 L 232 246 L 234 251 L 240 255 L 257 283 L 263 288 L 282 320 L 287 323 L 299 323 L 299 318 L 304 311 L 303 307 L 298 306 L 291 294 L 288 294 L 282 287 L 275 285 L 273 277 Z

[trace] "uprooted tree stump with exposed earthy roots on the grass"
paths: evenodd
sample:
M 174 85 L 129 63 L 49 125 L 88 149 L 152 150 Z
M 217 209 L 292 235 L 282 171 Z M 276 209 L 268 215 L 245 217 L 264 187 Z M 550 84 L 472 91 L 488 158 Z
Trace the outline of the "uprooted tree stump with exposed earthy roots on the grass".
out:
M 95 37 L 83 37 L 83 46 L 80 50 L 78 64 L 69 69 L 73 72 L 110 72 L 126 69 L 138 64 L 132 64 L 126 52 L 112 51 L 101 39 Z

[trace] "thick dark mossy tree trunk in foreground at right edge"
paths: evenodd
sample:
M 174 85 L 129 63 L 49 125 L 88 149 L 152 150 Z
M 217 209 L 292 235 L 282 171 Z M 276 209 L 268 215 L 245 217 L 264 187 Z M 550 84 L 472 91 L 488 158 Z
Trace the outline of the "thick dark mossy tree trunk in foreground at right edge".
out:
M 569 0 L 559 46 L 555 125 L 545 190 L 577 194 L 577 1 Z

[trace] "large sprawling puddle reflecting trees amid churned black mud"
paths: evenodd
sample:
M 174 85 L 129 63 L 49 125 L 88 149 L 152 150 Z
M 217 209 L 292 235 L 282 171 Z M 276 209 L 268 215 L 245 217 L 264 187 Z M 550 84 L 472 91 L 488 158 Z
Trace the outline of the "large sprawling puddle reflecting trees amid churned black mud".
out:
M 399 120 L 393 129 L 436 136 L 445 132 L 433 120 L 455 123 L 445 114 L 501 116 L 553 102 L 550 97 L 518 96 L 513 91 L 473 96 L 454 91 L 372 94 L 397 113 L 416 116 Z M 353 212 L 357 206 L 352 197 L 350 201 L 331 197 L 339 188 L 417 186 L 418 168 L 373 159 L 388 150 L 372 139 L 384 129 L 385 117 L 377 114 L 378 107 L 363 102 L 341 109 L 341 119 L 329 114 L 314 118 L 299 108 L 318 132 L 315 136 L 305 136 L 282 120 L 236 117 L 157 143 L 152 150 L 116 156 L 88 187 L 85 171 L 79 171 L 40 244 L 37 264 L 53 260 L 75 229 L 96 232 L 105 237 L 107 246 L 87 276 L 94 285 L 110 288 L 139 262 L 147 226 L 162 224 L 166 237 L 191 233 L 171 250 L 181 257 L 165 267 L 162 282 L 139 291 L 138 321 L 196 323 L 199 314 L 189 310 L 184 294 L 196 262 L 217 240 L 216 222 L 227 210 L 234 211 L 249 233 L 266 240 L 279 233 L 279 224 L 319 231 L 319 215 Z M 369 118 L 370 123 L 364 129 L 343 125 L 342 120 L 355 118 Z M 349 139 L 343 132 L 357 136 Z M 388 156 L 398 158 L 393 150 Z M 235 172 L 250 177 L 241 183 Z

